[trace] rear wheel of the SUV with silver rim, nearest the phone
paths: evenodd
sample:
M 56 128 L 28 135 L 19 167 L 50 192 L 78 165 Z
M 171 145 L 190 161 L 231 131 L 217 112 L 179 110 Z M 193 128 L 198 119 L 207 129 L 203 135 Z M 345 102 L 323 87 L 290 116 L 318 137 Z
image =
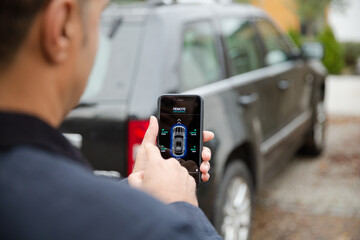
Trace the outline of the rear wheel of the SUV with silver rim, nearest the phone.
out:
M 215 226 L 224 240 L 250 239 L 252 212 L 251 174 L 243 162 L 232 162 L 225 170 L 215 213 Z

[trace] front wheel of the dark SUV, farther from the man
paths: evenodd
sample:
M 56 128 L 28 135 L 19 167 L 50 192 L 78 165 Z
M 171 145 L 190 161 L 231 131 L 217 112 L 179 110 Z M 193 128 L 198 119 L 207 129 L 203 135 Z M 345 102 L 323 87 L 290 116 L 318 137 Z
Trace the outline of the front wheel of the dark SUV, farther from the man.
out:
M 317 101 L 313 116 L 313 123 L 301 152 L 316 157 L 319 156 L 325 148 L 327 117 L 323 100 Z

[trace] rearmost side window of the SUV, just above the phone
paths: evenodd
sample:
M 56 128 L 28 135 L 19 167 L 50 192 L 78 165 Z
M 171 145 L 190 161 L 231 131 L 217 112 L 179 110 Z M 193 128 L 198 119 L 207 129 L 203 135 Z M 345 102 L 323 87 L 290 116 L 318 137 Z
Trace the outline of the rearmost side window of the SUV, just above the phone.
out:
M 220 79 L 221 68 L 209 21 L 187 24 L 181 53 L 183 90 L 190 90 Z

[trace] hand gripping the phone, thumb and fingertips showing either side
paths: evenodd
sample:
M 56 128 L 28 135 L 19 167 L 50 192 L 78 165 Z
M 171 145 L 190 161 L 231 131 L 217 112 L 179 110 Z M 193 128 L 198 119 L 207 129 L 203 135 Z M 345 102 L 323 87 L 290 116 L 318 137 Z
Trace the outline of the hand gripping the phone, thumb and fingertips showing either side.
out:
M 154 116 L 151 116 L 149 128 L 145 133 L 144 140 L 136 155 L 136 161 L 135 161 L 133 173 L 145 170 L 147 164 L 147 154 L 145 150 L 145 145 L 149 143 L 152 144 L 153 146 L 156 146 L 158 130 L 159 130 L 159 125 L 157 119 Z M 209 131 L 203 132 L 204 142 L 211 141 L 213 138 L 214 138 L 214 133 Z M 210 174 L 209 174 L 209 170 L 210 170 L 209 161 L 211 159 L 210 149 L 207 147 L 203 147 L 201 156 L 203 160 L 200 166 L 200 171 L 202 173 L 201 179 L 203 180 L 203 182 L 207 182 L 210 179 Z

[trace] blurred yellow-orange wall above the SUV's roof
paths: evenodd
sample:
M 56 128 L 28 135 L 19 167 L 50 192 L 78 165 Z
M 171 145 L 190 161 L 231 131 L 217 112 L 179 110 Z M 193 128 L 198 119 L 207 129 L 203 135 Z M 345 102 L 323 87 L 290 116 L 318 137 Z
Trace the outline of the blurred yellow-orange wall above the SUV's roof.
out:
M 292 0 L 251 0 L 250 3 L 264 9 L 284 31 L 300 30 L 300 19 Z

